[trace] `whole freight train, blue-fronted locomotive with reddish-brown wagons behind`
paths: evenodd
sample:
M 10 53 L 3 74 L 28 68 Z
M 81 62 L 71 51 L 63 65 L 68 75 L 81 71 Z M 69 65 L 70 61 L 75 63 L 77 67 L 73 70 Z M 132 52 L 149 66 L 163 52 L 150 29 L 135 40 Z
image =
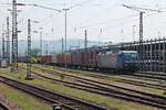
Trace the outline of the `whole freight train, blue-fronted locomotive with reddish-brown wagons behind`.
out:
M 136 51 L 97 52 L 71 51 L 56 56 L 42 56 L 41 63 L 68 66 L 79 69 L 136 72 L 138 69 L 138 54 Z

